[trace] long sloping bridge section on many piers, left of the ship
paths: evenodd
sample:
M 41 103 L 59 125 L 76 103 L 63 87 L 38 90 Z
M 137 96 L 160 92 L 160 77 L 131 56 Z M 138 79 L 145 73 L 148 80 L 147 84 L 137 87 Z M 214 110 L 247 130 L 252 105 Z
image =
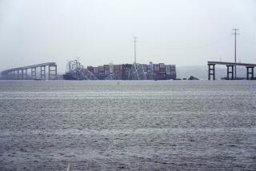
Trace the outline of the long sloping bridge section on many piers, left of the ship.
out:
M 46 80 L 46 67 L 48 68 L 48 79 L 55 79 L 57 76 L 57 65 L 55 62 L 47 62 L 37 64 L 33 66 L 23 66 L 18 68 L 12 68 L 9 70 L 3 70 L 1 72 L 2 79 L 8 80 L 27 80 L 27 79 L 39 79 Z M 37 75 L 37 69 L 39 72 Z

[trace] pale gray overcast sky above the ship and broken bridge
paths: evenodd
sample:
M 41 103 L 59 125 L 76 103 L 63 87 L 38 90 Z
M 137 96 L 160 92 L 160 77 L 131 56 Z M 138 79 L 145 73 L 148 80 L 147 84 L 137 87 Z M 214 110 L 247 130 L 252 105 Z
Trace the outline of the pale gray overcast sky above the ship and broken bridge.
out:
M 255 0 L 0 0 L 0 70 L 79 58 L 84 66 L 256 63 Z

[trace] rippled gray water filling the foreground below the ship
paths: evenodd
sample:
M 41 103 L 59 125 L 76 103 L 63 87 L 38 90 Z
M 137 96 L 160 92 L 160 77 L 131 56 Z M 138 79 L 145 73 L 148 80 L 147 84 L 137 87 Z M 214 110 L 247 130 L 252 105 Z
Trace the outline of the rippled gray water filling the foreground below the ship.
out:
M 0 170 L 256 170 L 256 82 L 0 82 Z

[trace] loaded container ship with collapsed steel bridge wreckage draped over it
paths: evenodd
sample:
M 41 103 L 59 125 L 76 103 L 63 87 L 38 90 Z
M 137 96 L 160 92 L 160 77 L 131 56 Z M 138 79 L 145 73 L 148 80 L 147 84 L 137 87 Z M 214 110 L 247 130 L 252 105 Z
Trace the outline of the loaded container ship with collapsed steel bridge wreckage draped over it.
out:
M 166 80 L 176 78 L 175 65 L 164 63 L 149 65 L 121 64 L 104 66 L 82 66 L 78 60 L 68 62 L 68 71 L 63 75 L 66 80 Z

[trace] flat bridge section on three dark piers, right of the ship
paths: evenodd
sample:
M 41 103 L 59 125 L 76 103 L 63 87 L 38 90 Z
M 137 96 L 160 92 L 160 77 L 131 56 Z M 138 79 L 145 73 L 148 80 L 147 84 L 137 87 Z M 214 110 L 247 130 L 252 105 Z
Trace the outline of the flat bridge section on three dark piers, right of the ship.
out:
M 213 78 L 215 80 L 215 65 L 225 65 L 226 66 L 226 79 L 234 79 L 234 66 L 246 66 L 246 79 L 254 79 L 254 67 L 256 64 L 248 63 L 234 63 L 234 62 L 208 62 L 208 80 Z M 213 77 L 211 77 L 213 76 Z

